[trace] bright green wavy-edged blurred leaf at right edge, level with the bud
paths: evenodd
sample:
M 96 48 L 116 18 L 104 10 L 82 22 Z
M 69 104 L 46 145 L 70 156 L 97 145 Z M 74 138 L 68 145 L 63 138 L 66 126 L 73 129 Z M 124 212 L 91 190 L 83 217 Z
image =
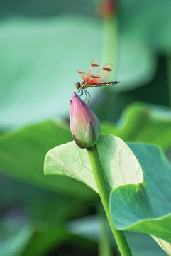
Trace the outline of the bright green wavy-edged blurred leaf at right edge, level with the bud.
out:
M 171 111 L 137 102 L 129 105 L 116 124 L 102 122 L 101 131 L 127 142 L 148 142 L 165 151 L 171 146 Z

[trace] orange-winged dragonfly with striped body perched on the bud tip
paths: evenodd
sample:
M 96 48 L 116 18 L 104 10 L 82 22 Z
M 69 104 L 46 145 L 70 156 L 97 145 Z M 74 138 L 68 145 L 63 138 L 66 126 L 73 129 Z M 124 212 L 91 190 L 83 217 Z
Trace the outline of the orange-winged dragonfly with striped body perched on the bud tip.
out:
M 80 92 L 79 96 L 82 96 L 83 92 L 84 92 L 86 95 L 86 100 L 87 100 L 87 94 L 89 95 L 89 98 L 90 98 L 90 94 L 86 90 L 87 88 L 106 86 L 106 85 L 115 85 L 118 83 L 118 81 L 105 82 L 106 79 L 109 78 L 109 76 L 111 75 L 111 71 L 112 71 L 111 64 L 104 65 L 103 68 L 101 68 L 100 72 L 97 75 L 94 75 L 98 71 L 99 71 L 99 60 L 92 61 L 88 73 L 86 73 L 82 70 L 77 70 L 77 72 L 82 76 L 82 79 L 83 79 L 83 81 L 81 83 L 77 82 L 75 84 L 75 88 L 77 90 L 79 90 L 77 93 Z M 88 104 L 89 104 L 89 98 L 87 100 Z

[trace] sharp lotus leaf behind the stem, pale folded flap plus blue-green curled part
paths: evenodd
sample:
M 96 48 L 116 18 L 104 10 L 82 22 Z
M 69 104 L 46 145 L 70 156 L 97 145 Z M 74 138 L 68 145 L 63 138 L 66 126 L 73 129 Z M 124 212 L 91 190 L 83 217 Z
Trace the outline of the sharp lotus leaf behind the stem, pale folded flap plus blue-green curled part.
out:
M 135 149 L 133 151 L 139 149 L 138 156 L 143 159 L 143 169 L 150 170 L 146 183 L 136 156 L 121 139 L 112 135 L 102 135 L 97 146 L 109 192 L 114 189 L 111 193 L 111 215 L 116 228 L 150 233 L 171 242 L 171 203 L 167 199 L 171 196 L 168 179 L 171 166 L 162 151 L 156 146 L 146 144 L 131 146 L 131 149 Z M 70 176 L 97 191 L 87 151 L 79 149 L 75 142 L 48 151 L 45 157 L 45 174 Z M 152 189 L 153 192 L 148 192 L 149 182 L 152 188 L 155 187 Z M 165 186 L 168 187 L 166 193 Z M 143 218 L 148 222 L 148 228 L 144 225 Z M 142 221 L 143 224 L 135 224 L 137 221 Z

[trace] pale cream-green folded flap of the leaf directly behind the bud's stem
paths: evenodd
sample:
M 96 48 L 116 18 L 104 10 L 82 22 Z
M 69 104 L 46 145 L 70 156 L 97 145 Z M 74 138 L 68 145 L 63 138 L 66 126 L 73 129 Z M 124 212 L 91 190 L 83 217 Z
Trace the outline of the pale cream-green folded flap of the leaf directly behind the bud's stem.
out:
M 126 183 L 138 184 L 143 181 L 143 172 L 136 157 L 121 139 L 104 134 L 97 146 L 109 191 Z M 128 165 L 132 166 L 131 175 L 127 171 Z M 97 192 L 87 151 L 80 149 L 75 142 L 48 151 L 45 156 L 45 174 L 70 176 Z

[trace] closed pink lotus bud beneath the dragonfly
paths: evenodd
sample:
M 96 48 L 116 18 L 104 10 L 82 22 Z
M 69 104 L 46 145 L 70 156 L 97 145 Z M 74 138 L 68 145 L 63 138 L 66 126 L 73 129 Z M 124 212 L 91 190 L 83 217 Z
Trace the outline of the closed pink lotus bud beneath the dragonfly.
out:
M 75 92 L 70 105 L 70 129 L 75 143 L 82 149 L 93 146 L 101 137 L 99 119 Z

